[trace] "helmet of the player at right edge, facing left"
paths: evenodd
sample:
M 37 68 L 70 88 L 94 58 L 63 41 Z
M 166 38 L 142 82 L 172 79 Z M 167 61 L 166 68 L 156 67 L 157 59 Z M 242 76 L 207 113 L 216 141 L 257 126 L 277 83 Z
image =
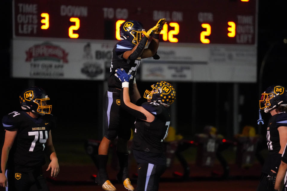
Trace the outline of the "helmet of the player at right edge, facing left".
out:
M 264 109 L 265 113 L 268 113 L 279 105 L 287 107 L 287 90 L 283 86 L 270 86 L 261 95 L 259 107 L 260 109 Z

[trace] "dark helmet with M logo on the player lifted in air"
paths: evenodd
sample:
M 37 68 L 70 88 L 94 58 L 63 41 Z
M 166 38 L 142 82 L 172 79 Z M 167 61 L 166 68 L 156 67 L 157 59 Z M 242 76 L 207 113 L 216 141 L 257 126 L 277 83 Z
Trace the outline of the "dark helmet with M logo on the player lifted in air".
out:
M 144 36 L 143 25 L 137 20 L 127 20 L 120 25 L 120 38 L 128 39 L 133 44 L 138 44 L 141 38 Z

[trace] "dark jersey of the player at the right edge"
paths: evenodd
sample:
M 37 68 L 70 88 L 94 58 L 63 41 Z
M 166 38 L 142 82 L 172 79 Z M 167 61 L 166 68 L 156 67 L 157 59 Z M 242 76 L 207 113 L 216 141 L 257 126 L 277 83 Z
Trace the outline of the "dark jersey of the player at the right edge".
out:
M 282 112 L 270 117 L 267 127 L 267 146 L 269 150 L 268 157 L 262 167 L 262 172 L 268 174 L 274 166 L 278 152 L 280 151 L 280 138 L 278 127 L 287 127 L 287 113 Z M 273 169 L 272 169 L 273 170 Z

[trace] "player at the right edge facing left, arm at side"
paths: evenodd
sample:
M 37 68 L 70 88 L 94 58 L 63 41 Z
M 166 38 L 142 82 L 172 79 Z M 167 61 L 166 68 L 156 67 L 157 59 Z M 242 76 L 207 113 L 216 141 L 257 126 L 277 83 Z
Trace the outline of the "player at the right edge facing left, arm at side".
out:
M 268 87 L 259 101 L 260 109 L 270 113 L 267 124 L 268 156 L 262 167 L 257 191 L 273 191 L 281 155 L 287 143 L 287 91 L 280 85 Z

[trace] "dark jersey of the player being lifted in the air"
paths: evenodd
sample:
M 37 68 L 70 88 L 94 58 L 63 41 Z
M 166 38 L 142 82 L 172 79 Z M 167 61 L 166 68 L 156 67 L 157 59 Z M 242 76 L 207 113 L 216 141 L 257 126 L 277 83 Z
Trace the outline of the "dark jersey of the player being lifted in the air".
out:
M 115 76 L 115 70 L 117 68 L 123 68 L 127 74 L 132 75 L 132 80 L 130 80 L 129 82 L 130 84 L 133 83 L 133 79 L 137 73 L 137 68 L 141 63 L 141 58 L 139 57 L 135 60 L 134 63 L 128 64 L 127 60 L 123 58 L 123 53 L 132 50 L 134 46 L 135 44 L 132 44 L 132 42 L 128 40 L 121 40 L 117 44 L 115 44 L 112 54 L 110 75 L 108 78 L 109 87 L 122 89 L 122 82 Z M 130 85 L 129 87 L 132 88 L 132 85 Z

